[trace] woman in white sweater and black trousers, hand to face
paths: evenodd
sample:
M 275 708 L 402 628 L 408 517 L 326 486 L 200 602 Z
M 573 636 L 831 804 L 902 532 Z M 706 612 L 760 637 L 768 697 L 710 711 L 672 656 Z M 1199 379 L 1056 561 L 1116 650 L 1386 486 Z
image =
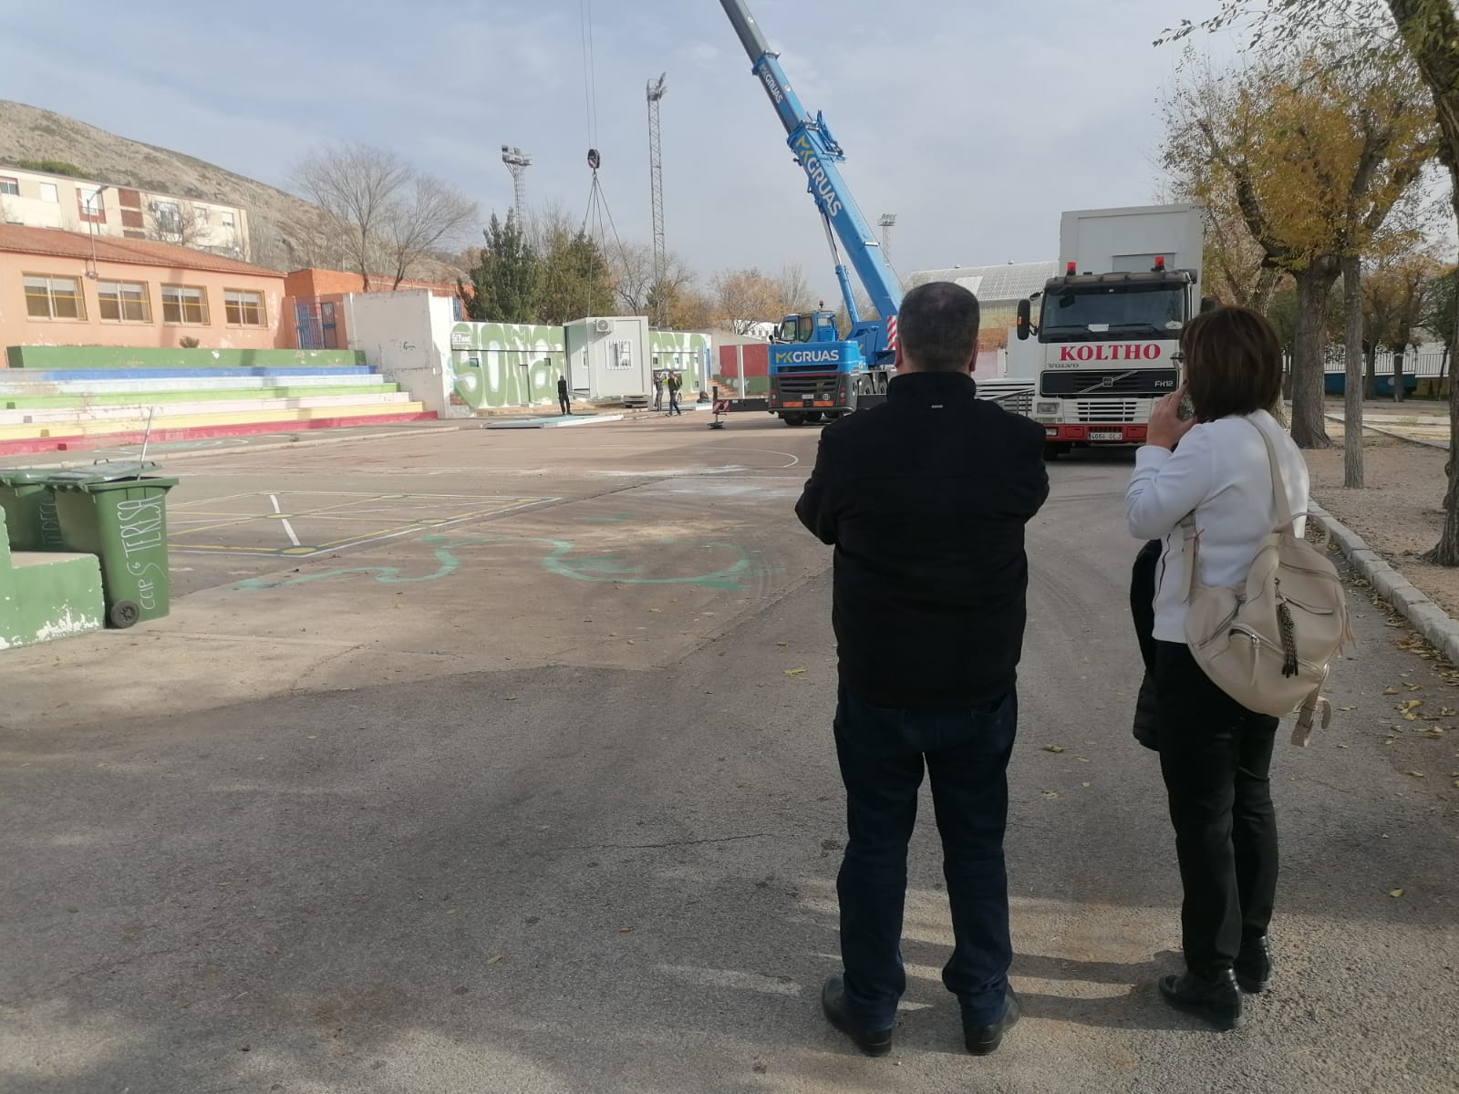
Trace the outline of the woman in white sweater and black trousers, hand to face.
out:
M 1297 532 L 1307 467 L 1274 411 L 1281 343 L 1246 308 L 1207 312 L 1186 327 L 1186 384 L 1150 419 L 1125 493 L 1132 535 L 1161 540 L 1156 567 L 1156 737 L 1170 798 L 1185 901 L 1186 971 L 1160 990 L 1218 1028 L 1242 1021 L 1242 992 L 1271 979 L 1266 926 L 1277 894 L 1271 767 L 1277 719 L 1240 706 L 1201 671 L 1185 637 L 1185 532 L 1193 515 L 1202 585 L 1237 585 L 1277 524 L 1266 446 L 1281 464 Z M 1182 417 L 1189 395 L 1195 413 Z M 1179 442 L 1179 449 L 1176 445 Z

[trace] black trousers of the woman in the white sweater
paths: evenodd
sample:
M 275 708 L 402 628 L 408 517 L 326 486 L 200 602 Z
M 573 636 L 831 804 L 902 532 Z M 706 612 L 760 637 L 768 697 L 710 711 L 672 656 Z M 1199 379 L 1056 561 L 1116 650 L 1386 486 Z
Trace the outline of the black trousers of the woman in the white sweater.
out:
M 1272 918 L 1277 811 L 1268 773 L 1278 719 L 1221 691 L 1182 642 L 1156 643 L 1156 710 L 1185 888 L 1186 967 L 1211 977 Z

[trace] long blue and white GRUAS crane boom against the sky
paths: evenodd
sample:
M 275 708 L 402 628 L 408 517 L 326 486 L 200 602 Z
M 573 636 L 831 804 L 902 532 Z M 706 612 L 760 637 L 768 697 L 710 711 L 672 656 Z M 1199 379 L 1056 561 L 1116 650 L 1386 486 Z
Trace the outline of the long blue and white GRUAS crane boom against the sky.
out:
M 816 198 L 816 206 L 830 225 L 842 247 L 851 258 L 856 276 L 861 279 L 877 312 L 890 319 L 896 317 L 902 305 L 902 283 L 891 264 L 887 261 L 877 241 L 871 225 L 856 207 L 856 200 L 851 195 L 851 188 L 836 165 L 846 159 L 845 152 L 826 125 L 820 112 L 811 117 L 801 104 L 800 96 L 791 88 L 785 70 L 781 67 L 779 54 L 770 50 L 765 34 L 744 0 L 719 0 L 730 16 L 730 22 L 740 35 L 746 54 L 750 57 L 751 71 L 770 96 L 770 105 L 785 125 L 785 133 L 791 152 L 805 171 L 810 179 L 810 191 Z M 837 260 L 837 277 L 842 292 L 846 296 L 846 309 L 854 317 L 856 308 L 851 299 L 845 267 Z

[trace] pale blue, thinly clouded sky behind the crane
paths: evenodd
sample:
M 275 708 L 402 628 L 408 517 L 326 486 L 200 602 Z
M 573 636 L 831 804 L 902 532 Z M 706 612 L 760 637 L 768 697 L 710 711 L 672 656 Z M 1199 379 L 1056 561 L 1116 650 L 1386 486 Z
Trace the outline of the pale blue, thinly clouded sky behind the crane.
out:
M 1179 53 L 1151 42 L 1215 9 L 748 1 L 805 105 L 846 149 L 862 213 L 872 223 L 896 213 L 889 252 L 902 274 L 1055 258 L 1061 210 L 1154 200 L 1160 98 Z M 667 73 L 668 248 L 703 279 L 800 264 L 827 299 L 836 292 L 804 174 L 716 0 L 9 7 L 0 98 L 283 188 L 321 143 L 374 144 L 467 193 L 483 217 L 512 204 L 502 144 L 533 156 L 530 204 L 587 216 L 592 144 L 627 242 L 652 235 L 645 85 Z M 1231 51 L 1230 41 L 1202 45 Z

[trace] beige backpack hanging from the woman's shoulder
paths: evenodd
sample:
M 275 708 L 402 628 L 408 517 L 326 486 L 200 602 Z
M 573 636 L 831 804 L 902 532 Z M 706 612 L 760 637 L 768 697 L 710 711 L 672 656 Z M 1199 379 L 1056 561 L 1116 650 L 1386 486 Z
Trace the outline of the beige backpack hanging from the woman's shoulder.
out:
M 1195 662 L 1226 694 L 1263 715 L 1297 713 L 1291 742 L 1306 747 L 1313 718 L 1322 728 L 1332 706 L 1322 697 L 1328 662 L 1352 639 L 1342 579 L 1320 546 L 1293 531 L 1291 505 L 1277 464 L 1277 449 L 1262 435 L 1277 500 L 1277 528 L 1262 540 L 1243 585 L 1199 583 L 1199 534 L 1186 516 L 1186 642 Z

